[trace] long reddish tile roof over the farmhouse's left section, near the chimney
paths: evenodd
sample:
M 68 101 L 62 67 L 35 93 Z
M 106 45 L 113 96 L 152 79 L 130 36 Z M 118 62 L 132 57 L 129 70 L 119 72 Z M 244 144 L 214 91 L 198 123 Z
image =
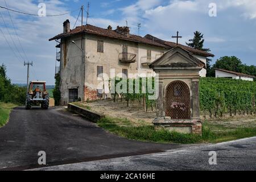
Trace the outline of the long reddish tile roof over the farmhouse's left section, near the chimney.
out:
M 66 37 L 71 36 L 71 35 L 80 34 L 81 32 L 88 33 L 88 34 L 94 34 L 94 35 L 106 36 L 106 37 L 115 38 L 115 39 L 129 40 L 129 41 L 132 41 L 132 42 L 149 44 L 151 46 L 158 46 L 158 47 L 168 48 L 168 46 L 166 46 L 166 45 L 159 44 L 157 42 L 153 42 L 152 40 L 145 39 L 142 36 L 133 35 L 133 34 L 130 34 L 129 36 L 125 36 L 125 35 L 120 34 L 120 33 L 116 32 L 114 30 L 109 30 L 109 29 L 106 29 L 106 28 L 100 28 L 100 27 L 92 26 L 90 24 L 86 24 L 85 26 L 82 26 L 82 27 L 79 26 L 79 27 L 76 27 L 75 29 L 71 30 L 70 32 L 56 35 L 55 37 L 49 39 L 49 41 L 55 40 L 55 39 L 66 38 Z

